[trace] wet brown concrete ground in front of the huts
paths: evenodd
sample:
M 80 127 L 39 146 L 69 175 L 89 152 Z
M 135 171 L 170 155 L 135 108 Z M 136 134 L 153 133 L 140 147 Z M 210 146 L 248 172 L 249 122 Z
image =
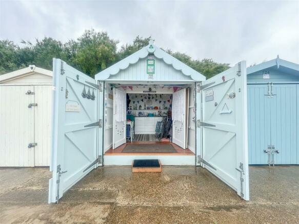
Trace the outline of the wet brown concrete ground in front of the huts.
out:
M 299 223 L 299 166 L 249 170 L 248 202 L 200 167 L 105 167 L 48 205 L 48 168 L 2 168 L 0 223 Z

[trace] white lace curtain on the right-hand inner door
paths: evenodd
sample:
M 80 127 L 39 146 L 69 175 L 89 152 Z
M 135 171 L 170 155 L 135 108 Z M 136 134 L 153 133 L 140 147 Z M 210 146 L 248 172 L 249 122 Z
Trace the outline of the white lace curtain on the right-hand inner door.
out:
M 172 96 L 172 120 L 184 121 L 184 91 L 174 93 Z

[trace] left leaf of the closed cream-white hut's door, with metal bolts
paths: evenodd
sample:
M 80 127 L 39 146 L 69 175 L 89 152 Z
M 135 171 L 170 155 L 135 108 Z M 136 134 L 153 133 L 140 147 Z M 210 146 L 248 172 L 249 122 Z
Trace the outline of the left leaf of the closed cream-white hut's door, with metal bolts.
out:
M 0 167 L 34 167 L 33 86 L 0 86 Z

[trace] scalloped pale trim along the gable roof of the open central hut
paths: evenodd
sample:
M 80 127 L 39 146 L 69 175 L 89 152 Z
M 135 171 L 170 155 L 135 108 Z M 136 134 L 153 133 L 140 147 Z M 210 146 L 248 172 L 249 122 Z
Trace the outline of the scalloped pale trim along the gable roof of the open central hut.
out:
M 146 47 L 136 51 L 135 53 L 124 58 L 123 60 L 97 73 L 95 75 L 95 79 L 96 80 L 108 79 L 110 75 L 116 75 L 120 70 L 127 69 L 130 65 L 137 63 L 139 59 L 145 58 L 149 54 L 153 54 L 155 57 L 159 59 L 163 59 L 167 65 L 172 65 L 174 69 L 182 71 L 184 75 L 191 76 L 191 78 L 195 81 L 206 80 L 206 77 L 204 75 L 190 68 L 189 66 L 182 63 L 180 60 L 176 59 L 170 54 L 166 53 L 161 48 L 155 46 L 152 40 L 150 40 L 149 45 L 147 45 Z

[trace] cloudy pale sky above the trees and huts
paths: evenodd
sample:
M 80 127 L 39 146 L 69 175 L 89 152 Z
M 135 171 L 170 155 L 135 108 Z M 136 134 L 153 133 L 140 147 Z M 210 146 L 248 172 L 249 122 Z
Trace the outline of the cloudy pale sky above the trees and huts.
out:
M 0 0 L 0 39 L 66 42 L 86 29 L 106 31 L 118 47 L 152 36 L 158 47 L 231 66 L 277 54 L 299 63 L 299 1 Z

